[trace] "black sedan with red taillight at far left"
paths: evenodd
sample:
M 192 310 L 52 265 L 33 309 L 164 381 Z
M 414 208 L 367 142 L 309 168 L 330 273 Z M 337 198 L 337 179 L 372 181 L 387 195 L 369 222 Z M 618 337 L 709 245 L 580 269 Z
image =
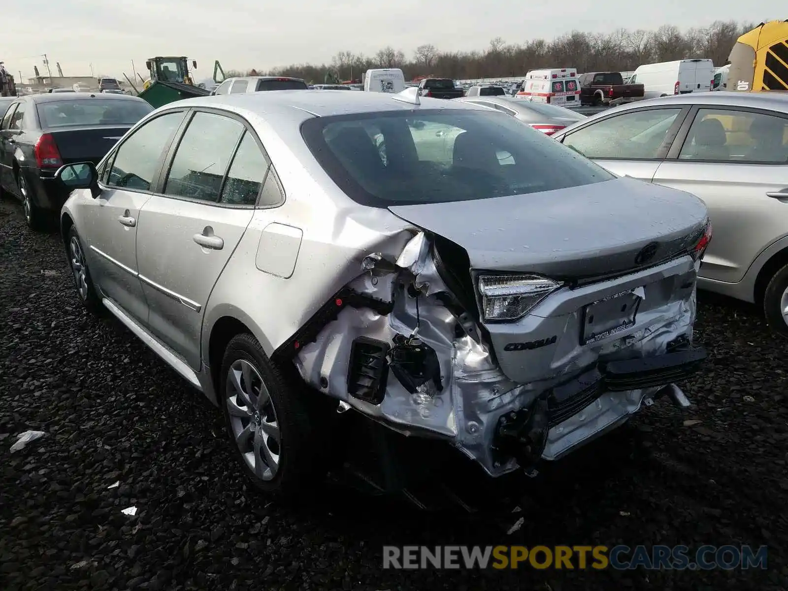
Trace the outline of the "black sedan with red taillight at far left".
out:
M 29 95 L 14 99 L 0 124 L 0 192 L 15 195 L 25 219 L 40 229 L 57 219 L 69 196 L 55 172 L 69 162 L 94 162 L 153 110 L 132 96 Z

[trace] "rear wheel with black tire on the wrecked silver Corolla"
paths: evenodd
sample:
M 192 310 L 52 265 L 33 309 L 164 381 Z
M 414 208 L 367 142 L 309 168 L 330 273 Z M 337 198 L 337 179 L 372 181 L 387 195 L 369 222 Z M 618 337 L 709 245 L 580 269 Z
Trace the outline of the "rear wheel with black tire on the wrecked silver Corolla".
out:
M 250 385 L 245 383 L 246 379 L 243 377 L 243 368 L 246 367 L 244 364 L 254 370 L 250 373 Z M 251 404 L 243 403 L 236 385 L 228 381 L 231 368 L 236 376 L 240 374 L 237 383 L 244 390 L 251 386 L 253 393 L 255 390 L 261 392 L 262 386 L 265 386 L 268 402 L 259 410 Z M 244 333 L 230 340 L 219 374 L 221 411 L 225 417 L 230 444 L 241 469 L 262 491 L 281 496 L 300 496 L 325 475 L 321 450 L 323 443 L 315 437 L 314 420 L 310 416 L 313 412 L 310 408 L 311 401 L 307 400 L 307 392 L 300 390 L 301 388 L 285 379 L 277 366 L 270 362 L 254 336 Z M 255 400 L 251 402 L 254 403 Z M 231 407 L 235 408 L 236 414 L 231 414 Z M 247 418 L 239 416 L 240 411 L 245 411 Z M 278 427 L 278 441 L 270 434 L 273 433 L 272 421 Z M 239 433 L 243 432 L 255 434 L 238 437 Z M 255 451 L 255 440 L 258 439 L 258 448 L 262 453 L 267 450 L 269 458 L 278 454 L 275 470 L 271 470 L 268 460 L 258 463 L 261 462 L 261 456 Z M 257 467 L 259 470 L 255 470 Z

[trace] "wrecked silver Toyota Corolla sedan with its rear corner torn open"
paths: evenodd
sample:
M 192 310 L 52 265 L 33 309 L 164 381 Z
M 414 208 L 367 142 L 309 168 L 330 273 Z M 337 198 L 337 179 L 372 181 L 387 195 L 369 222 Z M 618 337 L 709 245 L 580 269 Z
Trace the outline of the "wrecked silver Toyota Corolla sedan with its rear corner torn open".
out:
M 705 356 L 701 200 L 504 113 L 369 92 L 188 99 L 58 177 L 82 302 L 221 407 L 268 491 L 314 476 L 326 406 L 500 476 L 661 395 L 686 406 L 674 382 Z

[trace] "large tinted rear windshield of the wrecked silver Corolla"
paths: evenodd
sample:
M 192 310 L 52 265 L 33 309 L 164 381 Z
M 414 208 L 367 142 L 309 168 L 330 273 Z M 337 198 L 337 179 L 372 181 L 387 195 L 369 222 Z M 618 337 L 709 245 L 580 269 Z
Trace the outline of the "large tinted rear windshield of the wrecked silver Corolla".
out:
M 615 178 L 494 111 L 314 117 L 301 132 L 329 177 L 351 199 L 374 207 L 490 199 Z

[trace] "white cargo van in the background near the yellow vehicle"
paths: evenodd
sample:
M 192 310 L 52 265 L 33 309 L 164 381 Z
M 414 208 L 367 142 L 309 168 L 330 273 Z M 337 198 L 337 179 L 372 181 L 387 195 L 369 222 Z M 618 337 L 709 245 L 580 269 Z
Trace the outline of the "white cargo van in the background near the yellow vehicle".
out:
M 643 84 L 644 99 L 708 92 L 714 84 L 714 64 L 707 59 L 645 64 L 635 70 L 630 84 Z

